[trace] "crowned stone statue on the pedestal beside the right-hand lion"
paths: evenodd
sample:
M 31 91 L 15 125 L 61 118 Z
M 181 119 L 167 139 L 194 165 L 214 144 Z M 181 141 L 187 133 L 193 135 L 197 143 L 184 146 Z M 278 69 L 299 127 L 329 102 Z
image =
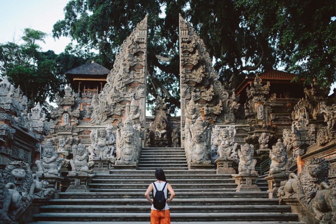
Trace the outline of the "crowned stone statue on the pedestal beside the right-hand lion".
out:
M 281 142 L 281 139 L 278 139 L 276 145 L 273 145 L 272 149 L 269 150 L 269 158 L 271 159 L 269 175 L 289 175 L 292 160 L 288 159 L 286 147 Z

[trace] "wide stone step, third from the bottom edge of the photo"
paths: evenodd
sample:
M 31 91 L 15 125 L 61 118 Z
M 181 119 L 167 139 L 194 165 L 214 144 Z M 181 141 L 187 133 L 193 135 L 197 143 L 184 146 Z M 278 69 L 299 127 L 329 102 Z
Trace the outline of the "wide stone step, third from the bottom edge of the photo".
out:
M 267 206 L 267 205 L 255 205 L 255 206 L 246 206 L 246 205 L 234 205 L 234 206 L 178 206 L 178 205 L 169 205 L 170 212 L 174 213 L 191 213 L 191 212 L 281 212 L 289 213 L 291 211 L 290 206 Z M 40 212 L 42 213 L 67 213 L 67 212 L 138 212 L 138 213 L 150 213 L 151 206 L 109 206 L 109 205 L 49 205 L 41 206 Z

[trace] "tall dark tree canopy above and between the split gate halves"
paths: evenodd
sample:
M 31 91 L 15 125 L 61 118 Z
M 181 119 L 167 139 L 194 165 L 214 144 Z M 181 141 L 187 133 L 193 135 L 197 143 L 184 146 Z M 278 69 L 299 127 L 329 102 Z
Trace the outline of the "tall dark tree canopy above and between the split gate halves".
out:
M 106 68 L 112 68 L 123 40 L 148 14 L 147 89 L 166 97 L 171 113 L 179 107 L 178 13 L 214 56 L 219 80 L 233 88 L 247 73 L 279 68 L 324 87 L 336 81 L 331 0 L 71 0 L 64 12 L 53 36 L 71 37 L 77 44 L 68 52 L 94 57 Z

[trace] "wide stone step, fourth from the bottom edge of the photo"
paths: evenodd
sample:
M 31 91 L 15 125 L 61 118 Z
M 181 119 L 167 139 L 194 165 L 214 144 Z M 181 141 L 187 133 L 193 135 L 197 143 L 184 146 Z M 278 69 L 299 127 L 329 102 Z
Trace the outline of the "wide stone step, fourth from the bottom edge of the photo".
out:
M 65 196 L 65 195 L 64 195 Z M 174 198 L 170 205 L 174 206 L 233 206 L 233 205 L 269 205 L 276 206 L 279 204 L 279 199 L 269 198 Z M 48 205 L 119 205 L 119 206 L 134 206 L 145 205 L 149 202 L 144 198 L 61 198 L 50 199 Z

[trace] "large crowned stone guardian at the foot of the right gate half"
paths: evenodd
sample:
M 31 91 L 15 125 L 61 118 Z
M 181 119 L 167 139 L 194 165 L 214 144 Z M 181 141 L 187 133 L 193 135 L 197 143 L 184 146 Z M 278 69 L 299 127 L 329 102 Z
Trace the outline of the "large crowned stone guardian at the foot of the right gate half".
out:
M 188 165 L 211 164 L 210 142 L 207 124 L 199 117 L 188 130 L 188 144 L 185 148 Z

